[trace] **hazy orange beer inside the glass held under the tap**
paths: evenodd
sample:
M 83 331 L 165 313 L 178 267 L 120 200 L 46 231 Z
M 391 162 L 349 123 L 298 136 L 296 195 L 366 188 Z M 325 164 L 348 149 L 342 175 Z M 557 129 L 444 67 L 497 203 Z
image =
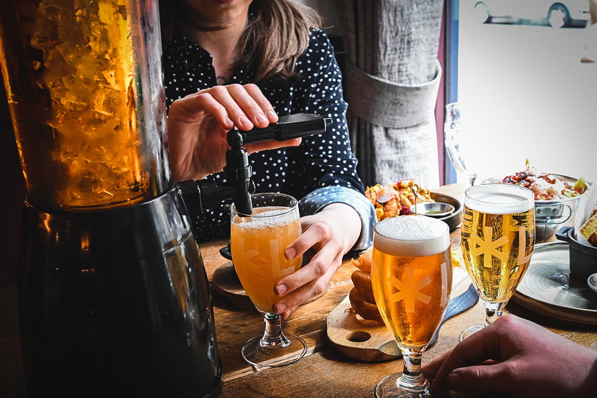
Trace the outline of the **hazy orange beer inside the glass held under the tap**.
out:
M 253 209 L 253 215 L 234 215 L 230 226 L 230 249 L 238 279 L 263 312 L 272 311 L 279 300 L 273 285 L 301 266 L 302 258 L 287 260 L 284 249 L 301 233 L 297 208 L 267 206 Z

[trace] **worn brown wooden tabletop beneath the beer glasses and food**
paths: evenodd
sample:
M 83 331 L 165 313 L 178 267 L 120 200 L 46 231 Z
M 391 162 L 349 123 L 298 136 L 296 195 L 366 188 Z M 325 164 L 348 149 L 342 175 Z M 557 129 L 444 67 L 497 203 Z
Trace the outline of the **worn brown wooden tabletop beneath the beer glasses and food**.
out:
M 464 186 L 452 184 L 434 192 L 461 200 Z M 459 250 L 459 230 L 451 234 L 453 248 Z M 223 240 L 201 245 L 205 268 L 211 280 L 225 260 L 219 249 Z M 284 331 L 298 334 L 307 341 L 306 357 L 290 366 L 256 371 L 241 357 L 242 345 L 263 331 L 263 319 L 257 311 L 240 310 L 227 298 L 214 293 L 218 348 L 223 363 L 224 387 L 221 397 L 371 397 L 373 388 L 384 376 L 402 370 L 401 360 L 369 363 L 350 359 L 330 347 L 326 334 L 326 317 L 352 288 L 350 274 L 355 267 L 346 258 L 334 274 L 325 294 L 297 308 L 283 324 Z M 16 311 L 16 289 L 0 289 L 0 396 L 24 396 Z M 559 322 L 526 310 L 513 302 L 507 311 L 533 320 L 572 341 L 597 349 L 597 326 Z M 484 306 L 475 307 L 448 320 L 439 339 L 423 356 L 429 362 L 454 347 L 458 335 L 467 326 L 484 321 Z

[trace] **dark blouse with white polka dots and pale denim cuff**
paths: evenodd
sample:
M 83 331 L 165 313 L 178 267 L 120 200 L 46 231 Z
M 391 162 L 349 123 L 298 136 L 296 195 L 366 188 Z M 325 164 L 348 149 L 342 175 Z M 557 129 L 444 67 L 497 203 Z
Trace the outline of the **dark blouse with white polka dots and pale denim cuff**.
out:
M 350 150 L 346 107 L 340 69 L 333 47 L 323 30 L 311 30 L 309 48 L 296 63 L 300 78 L 292 82 L 264 81 L 259 88 L 272 103 L 278 116 L 318 113 L 331 118 L 323 134 L 304 137 L 300 146 L 251 153 L 256 192 L 283 192 L 299 199 L 301 215 L 314 214 L 324 206 L 341 202 L 361 216 L 361 237 L 354 249 L 371 245 L 373 205 L 364 196 L 364 186 L 356 174 L 356 158 Z M 167 106 L 198 90 L 217 85 L 211 55 L 195 42 L 175 33 L 164 48 Z M 254 82 L 256 71 L 249 65 L 237 68 L 228 84 Z M 223 172 L 210 175 L 224 183 Z M 230 204 L 205 209 L 193 220 L 200 241 L 230 235 Z

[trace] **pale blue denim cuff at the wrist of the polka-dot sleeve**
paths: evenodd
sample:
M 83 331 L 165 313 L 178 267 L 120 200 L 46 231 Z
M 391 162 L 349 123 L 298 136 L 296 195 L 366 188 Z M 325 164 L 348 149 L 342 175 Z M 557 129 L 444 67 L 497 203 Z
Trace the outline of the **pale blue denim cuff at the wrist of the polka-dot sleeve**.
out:
M 377 216 L 373 204 L 357 190 L 342 186 L 321 187 L 310 192 L 298 201 L 301 215 L 315 214 L 331 203 L 346 203 L 361 217 L 361 235 L 350 251 L 367 249 L 373 243 L 373 227 Z

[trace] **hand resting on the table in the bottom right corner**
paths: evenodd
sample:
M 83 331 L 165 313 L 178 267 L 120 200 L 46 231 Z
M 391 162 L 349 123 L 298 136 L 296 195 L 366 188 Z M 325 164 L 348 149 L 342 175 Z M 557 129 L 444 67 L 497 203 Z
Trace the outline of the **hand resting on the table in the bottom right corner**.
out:
M 515 397 L 594 397 L 597 351 L 504 315 L 423 366 L 434 398 L 448 389 Z

